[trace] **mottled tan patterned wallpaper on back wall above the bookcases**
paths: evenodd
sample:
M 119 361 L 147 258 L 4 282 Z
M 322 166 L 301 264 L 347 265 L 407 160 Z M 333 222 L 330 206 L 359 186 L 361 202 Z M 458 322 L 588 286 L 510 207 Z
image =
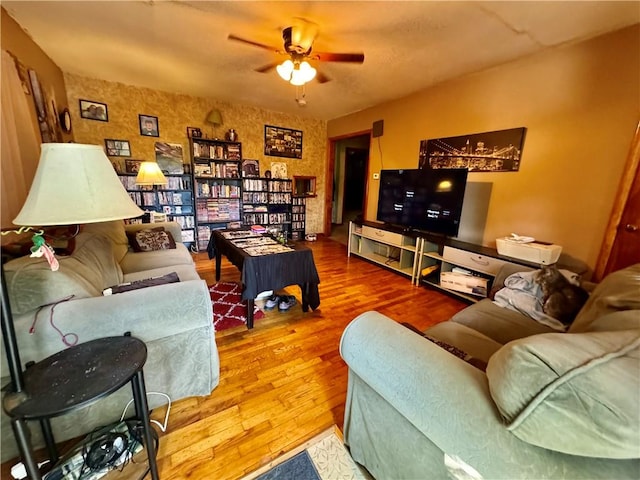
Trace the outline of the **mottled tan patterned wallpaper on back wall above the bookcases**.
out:
M 238 134 L 238 141 L 242 142 L 243 157 L 259 160 L 261 174 L 271 169 L 271 162 L 284 162 L 290 178 L 293 175 L 317 177 L 317 197 L 307 199 L 306 231 L 322 232 L 325 212 L 324 173 L 327 165 L 325 121 L 72 74 L 65 74 L 64 80 L 76 142 L 104 147 L 105 139 L 127 140 L 131 146 L 129 158 L 137 160 L 155 160 L 155 142 L 179 143 L 185 152 L 184 162 L 188 163 L 187 127 L 199 127 L 203 136 L 209 138 L 224 138 L 225 132 L 233 128 Z M 81 118 L 80 99 L 106 104 L 108 121 Z M 223 124 L 215 129 L 204 122 L 207 113 L 213 108 L 220 110 L 223 120 Z M 139 114 L 158 117 L 159 137 L 140 135 Z M 265 125 L 302 130 L 302 159 L 264 155 Z M 110 158 L 119 163 L 124 171 L 125 157 Z

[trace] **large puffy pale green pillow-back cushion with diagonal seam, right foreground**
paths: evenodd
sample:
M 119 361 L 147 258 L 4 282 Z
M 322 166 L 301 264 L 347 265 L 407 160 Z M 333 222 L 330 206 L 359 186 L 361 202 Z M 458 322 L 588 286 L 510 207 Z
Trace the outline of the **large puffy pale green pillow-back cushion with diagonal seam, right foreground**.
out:
M 491 396 L 521 440 L 572 455 L 640 457 L 640 330 L 535 335 L 489 360 Z

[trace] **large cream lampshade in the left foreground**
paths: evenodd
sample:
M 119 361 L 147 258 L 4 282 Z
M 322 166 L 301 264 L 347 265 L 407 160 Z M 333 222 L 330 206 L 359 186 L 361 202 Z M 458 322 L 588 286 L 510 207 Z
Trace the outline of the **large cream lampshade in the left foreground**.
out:
M 139 217 L 102 147 L 43 143 L 40 162 L 16 225 L 49 226 Z

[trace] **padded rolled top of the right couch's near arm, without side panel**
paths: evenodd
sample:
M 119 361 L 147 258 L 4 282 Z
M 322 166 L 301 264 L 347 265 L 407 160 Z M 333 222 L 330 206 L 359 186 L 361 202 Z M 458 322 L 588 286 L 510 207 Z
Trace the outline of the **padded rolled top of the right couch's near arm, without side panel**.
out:
M 378 312 L 366 312 L 347 326 L 340 353 L 349 375 L 357 375 L 440 450 L 483 478 L 551 478 L 562 471 L 572 478 L 601 476 L 594 466 L 599 459 L 584 462 L 519 440 L 505 428 L 482 371 Z M 354 394 L 348 392 L 347 405 Z M 606 468 L 616 465 L 607 462 Z M 614 477 L 626 475 L 611 472 Z

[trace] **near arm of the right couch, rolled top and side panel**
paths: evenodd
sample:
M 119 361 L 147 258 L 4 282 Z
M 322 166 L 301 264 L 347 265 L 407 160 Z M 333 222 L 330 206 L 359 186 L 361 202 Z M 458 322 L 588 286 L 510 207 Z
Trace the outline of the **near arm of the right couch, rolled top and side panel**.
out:
M 345 442 L 376 479 L 450 480 L 445 453 L 486 480 L 640 474 L 637 460 L 567 455 L 519 439 L 484 373 L 378 312 L 347 326 L 340 353 L 349 366 Z

